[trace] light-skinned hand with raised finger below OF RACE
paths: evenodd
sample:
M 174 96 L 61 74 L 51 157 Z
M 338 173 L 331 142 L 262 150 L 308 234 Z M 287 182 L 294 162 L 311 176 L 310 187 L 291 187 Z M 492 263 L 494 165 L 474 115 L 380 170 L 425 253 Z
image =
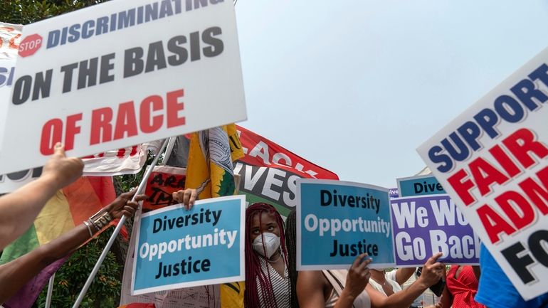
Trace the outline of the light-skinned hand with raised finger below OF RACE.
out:
M 58 190 L 82 176 L 83 169 L 82 159 L 65 156 L 65 147 L 57 143 L 55 153 L 43 167 L 42 177 L 51 179 Z

